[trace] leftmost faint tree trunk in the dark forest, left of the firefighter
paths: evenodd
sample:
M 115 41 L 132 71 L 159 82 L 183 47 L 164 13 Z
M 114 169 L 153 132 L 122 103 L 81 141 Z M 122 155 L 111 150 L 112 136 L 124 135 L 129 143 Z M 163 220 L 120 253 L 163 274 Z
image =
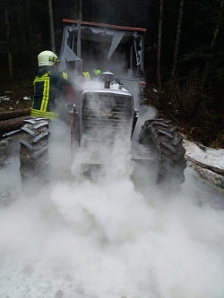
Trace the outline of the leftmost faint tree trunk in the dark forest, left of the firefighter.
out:
M 9 21 L 9 11 L 8 11 L 7 0 L 4 0 L 4 20 L 5 20 L 6 49 L 8 53 L 8 64 L 9 64 L 9 78 L 10 80 L 13 80 L 13 54 L 12 54 L 12 47 L 11 47 L 10 21 Z

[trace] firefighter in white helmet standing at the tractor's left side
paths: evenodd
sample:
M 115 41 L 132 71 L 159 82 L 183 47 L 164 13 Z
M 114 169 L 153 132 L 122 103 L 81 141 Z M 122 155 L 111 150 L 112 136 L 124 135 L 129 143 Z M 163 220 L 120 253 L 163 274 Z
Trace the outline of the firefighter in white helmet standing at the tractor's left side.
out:
M 68 102 L 73 102 L 73 85 L 66 72 L 57 72 L 60 60 L 55 53 L 43 51 L 38 55 L 38 61 L 31 115 L 56 119 L 61 101 L 66 98 Z

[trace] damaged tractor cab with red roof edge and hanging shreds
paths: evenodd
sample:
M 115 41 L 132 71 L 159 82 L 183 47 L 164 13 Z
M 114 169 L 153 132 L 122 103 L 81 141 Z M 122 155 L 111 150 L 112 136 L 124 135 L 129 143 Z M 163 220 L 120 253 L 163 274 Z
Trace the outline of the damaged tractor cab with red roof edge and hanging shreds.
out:
M 145 29 L 89 21 L 63 20 L 64 32 L 59 70 L 73 62 L 76 73 L 93 70 L 115 73 L 115 81 L 143 102 Z

